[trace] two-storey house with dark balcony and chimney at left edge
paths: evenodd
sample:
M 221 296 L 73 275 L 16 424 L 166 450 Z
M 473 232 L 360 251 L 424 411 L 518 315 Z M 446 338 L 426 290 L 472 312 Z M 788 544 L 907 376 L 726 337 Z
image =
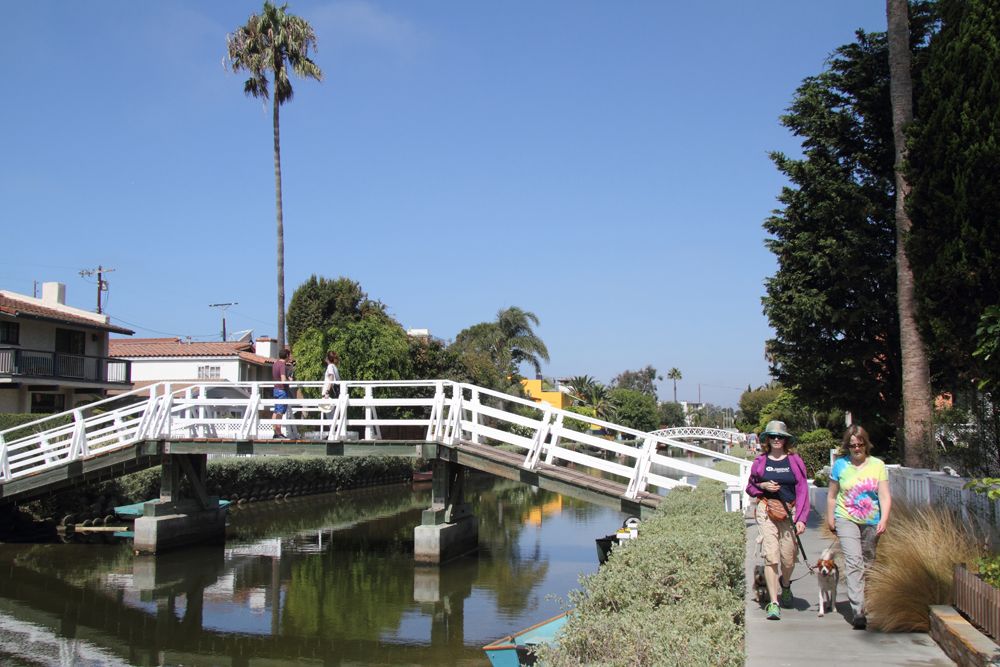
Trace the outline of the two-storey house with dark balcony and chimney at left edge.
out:
M 43 283 L 41 298 L 0 290 L 0 412 L 61 412 L 131 388 L 112 333 L 132 331 L 68 306 L 62 283 Z

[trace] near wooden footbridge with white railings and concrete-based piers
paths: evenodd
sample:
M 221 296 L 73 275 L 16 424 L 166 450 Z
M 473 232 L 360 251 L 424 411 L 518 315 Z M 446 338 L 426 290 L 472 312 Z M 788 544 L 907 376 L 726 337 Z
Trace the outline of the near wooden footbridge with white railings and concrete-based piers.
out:
M 318 393 L 318 386 L 295 384 L 299 395 Z M 417 557 L 427 549 L 435 561 L 452 539 L 442 542 L 440 534 L 469 523 L 462 467 L 635 514 L 684 484 L 664 469 L 721 481 L 731 500 L 742 497 L 749 474 L 743 459 L 469 384 L 342 382 L 332 400 L 274 399 L 272 387 L 206 383 L 173 390 L 163 383 L 0 431 L 0 498 L 28 499 L 162 464 L 160 501 L 147 504 L 136 521 L 136 548 L 156 551 L 195 533 L 221 535 L 222 511 L 204 484 L 208 454 L 423 457 L 436 469 L 432 507 L 417 528 Z M 280 422 L 270 414 L 278 405 L 288 408 Z M 298 437 L 273 440 L 277 425 Z M 592 435 L 592 427 L 610 437 Z M 31 431 L 37 432 L 25 434 Z M 739 473 L 661 454 L 664 446 L 731 461 Z M 181 495 L 182 475 L 191 483 L 190 498 Z

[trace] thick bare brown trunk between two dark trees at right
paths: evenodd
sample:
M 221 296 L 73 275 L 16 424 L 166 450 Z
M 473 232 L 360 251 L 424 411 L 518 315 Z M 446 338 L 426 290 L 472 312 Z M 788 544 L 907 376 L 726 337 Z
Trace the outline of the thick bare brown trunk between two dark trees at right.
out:
M 903 382 L 903 461 L 916 468 L 934 463 L 934 424 L 930 367 L 917 328 L 913 271 L 906 254 L 912 225 L 906 212 L 910 184 L 903 173 L 906 126 L 913 120 L 913 80 L 910 76 L 910 24 L 907 0 L 886 0 L 889 38 L 892 130 L 896 144 L 896 293 Z

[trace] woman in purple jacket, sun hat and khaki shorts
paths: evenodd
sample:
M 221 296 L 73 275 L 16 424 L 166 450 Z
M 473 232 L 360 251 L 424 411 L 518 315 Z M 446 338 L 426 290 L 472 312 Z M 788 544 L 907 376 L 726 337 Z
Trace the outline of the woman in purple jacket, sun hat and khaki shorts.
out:
M 781 607 L 792 606 L 792 571 L 795 569 L 795 534 L 806 529 L 809 516 L 809 482 L 806 480 L 806 466 L 795 453 L 795 438 L 788 432 L 784 422 L 768 422 L 760 434 L 763 453 L 754 459 L 750 467 L 750 481 L 747 494 L 757 499 L 757 524 L 760 528 L 761 552 L 764 555 L 764 580 L 771 601 L 765 607 L 767 618 L 781 620 Z M 792 516 L 780 521 L 772 519 L 767 512 L 766 499 L 785 501 Z M 794 533 L 792 531 L 795 531 Z M 778 566 L 781 579 L 778 579 Z M 778 588 L 781 588 L 779 597 Z

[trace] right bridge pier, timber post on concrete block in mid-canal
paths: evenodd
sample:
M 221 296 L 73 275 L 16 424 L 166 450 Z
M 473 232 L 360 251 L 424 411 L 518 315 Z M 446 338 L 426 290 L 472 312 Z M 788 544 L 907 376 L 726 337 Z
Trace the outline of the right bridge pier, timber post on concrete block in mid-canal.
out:
M 479 520 L 465 502 L 465 474 L 457 463 L 434 462 L 431 507 L 413 530 L 413 557 L 418 563 L 443 563 L 479 546 Z

